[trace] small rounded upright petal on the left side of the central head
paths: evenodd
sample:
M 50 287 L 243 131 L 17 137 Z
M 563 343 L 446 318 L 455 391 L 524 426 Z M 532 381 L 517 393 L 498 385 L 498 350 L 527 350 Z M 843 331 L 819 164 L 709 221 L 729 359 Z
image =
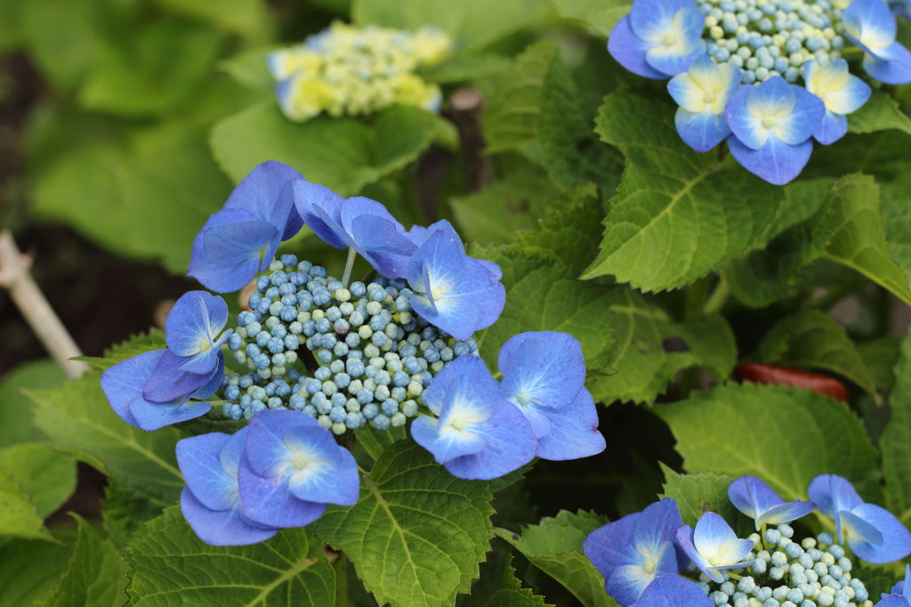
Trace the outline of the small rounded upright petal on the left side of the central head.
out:
M 168 313 L 165 320 L 165 342 L 175 355 L 199 354 L 203 344 L 207 345 L 207 351 L 211 349 L 215 335 L 219 334 L 226 322 L 228 304 L 223 299 L 205 291 L 190 291 L 181 295 Z M 206 369 L 194 373 L 208 371 Z

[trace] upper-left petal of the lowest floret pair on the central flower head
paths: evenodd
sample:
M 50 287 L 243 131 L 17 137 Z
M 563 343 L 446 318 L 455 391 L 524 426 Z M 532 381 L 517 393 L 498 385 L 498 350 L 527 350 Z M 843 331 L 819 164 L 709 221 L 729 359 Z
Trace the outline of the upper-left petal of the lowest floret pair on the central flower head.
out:
M 238 499 L 237 478 L 221 465 L 221 449 L 229 439 L 230 435 L 210 432 L 183 438 L 175 449 L 187 487 L 208 509 L 230 509 Z

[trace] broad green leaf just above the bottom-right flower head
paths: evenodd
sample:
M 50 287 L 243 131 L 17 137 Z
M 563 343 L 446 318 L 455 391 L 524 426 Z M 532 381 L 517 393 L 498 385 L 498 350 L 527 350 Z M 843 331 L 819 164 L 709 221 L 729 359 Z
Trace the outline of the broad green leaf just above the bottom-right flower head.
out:
M 742 384 L 655 406 L 677 439 L 683 468 L 762 478 L 783 499 L 806 499 L 816 476 L 849 478 L 878 497 L 875 449 L 848 406 L 811 390 Z

